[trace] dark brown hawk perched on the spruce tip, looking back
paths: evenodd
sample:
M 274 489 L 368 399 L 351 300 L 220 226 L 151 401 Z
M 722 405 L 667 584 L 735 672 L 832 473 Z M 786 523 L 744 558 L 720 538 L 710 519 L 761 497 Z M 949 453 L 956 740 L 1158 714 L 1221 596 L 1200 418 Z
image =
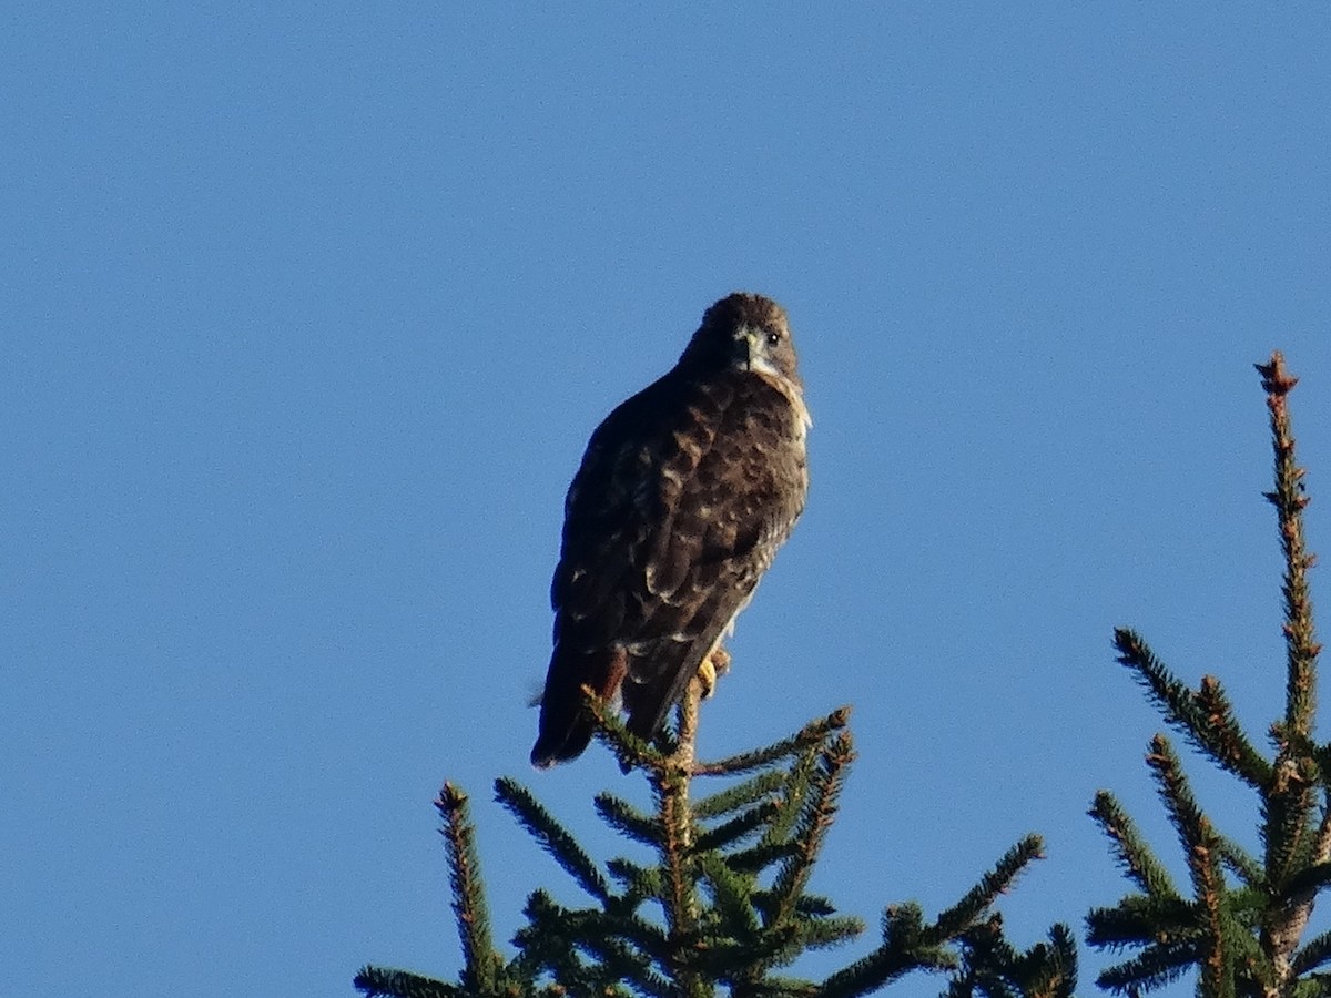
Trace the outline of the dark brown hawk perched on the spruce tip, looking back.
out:
M 580 754 L 588 685 L 650 739 L 804 508 L 809 413 L 785 313 L 732 294 L 592 434 L 564 500 L 555 647 L 531 761 Z

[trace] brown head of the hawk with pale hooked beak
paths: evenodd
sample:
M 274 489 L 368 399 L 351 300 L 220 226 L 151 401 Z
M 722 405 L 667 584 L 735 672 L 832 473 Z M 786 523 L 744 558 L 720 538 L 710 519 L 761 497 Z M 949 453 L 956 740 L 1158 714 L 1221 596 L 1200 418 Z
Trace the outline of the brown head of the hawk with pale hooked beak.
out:
M 785 310 L 771 298 L 736 291 L 703 315 L 680 366 L 760 371 L 801 389 Z

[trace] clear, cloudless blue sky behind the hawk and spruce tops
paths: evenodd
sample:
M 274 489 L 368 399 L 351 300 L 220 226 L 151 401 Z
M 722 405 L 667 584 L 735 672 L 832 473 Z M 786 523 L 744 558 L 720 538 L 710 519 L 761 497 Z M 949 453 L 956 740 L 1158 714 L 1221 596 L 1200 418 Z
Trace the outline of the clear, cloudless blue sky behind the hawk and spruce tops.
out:
M 454 973 L 445 778 L 503 935 L 563 889 L 490 802 L 515 774 L 591 829 L 590 793 L 630 785 L 599 749 L 526 761 L 563 492 L 736 289 L 789 310 L 813 487 L 703 749 L 855 705 L 816 884 L 844 910 L 937 912 L 1038 830 L 1013 935 L 1079 929 L 1125 889 L 1101 786 L 1177 868 L 1115 624 L 1219 673 L 1255 735 L 1275 715 L 1251 363 L 1303 375 L 1326 552 L 1324 3 L 4 20 L 0 974 L 24 994 Z M 1250 837 L 1254 801 L 1199 786 Z

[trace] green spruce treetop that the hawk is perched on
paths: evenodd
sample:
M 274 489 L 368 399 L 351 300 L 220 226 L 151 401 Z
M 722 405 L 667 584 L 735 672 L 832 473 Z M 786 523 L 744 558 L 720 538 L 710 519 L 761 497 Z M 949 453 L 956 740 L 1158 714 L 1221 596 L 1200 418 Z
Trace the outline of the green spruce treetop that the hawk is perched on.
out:
M 443 818 L 463 969 L 457 982 L 365 967 L 355 986 L 395 998 L 851 998 L 910 971 L 949 975 L 953 998 L 1067 998 L 1075 985 L 1075 943 L 1066 926 L 1018 950 L 993 910 L 1000 894 L 1040 857 L 1028 836 L 956 905 L 929 921 L 913 904 L 882 917 L 881 942 L 823 981 L 792 974 L 805 953 L 847 943 L 864 931 L 809 890 L 809 880 L 855 757 L 849 711 L 815 720 L 789 739 L 719 761 L 693 754 L 699 688 L 692 684 L 677 724 L 654 745 L 628 733 L 614 712 L 591 701 L 599 733 L 628 772 L 651 788 L 643 812 L 611 793 L 595 798 L 599 817 L 647 861 L 592 860 L 576 836 L 511 778 L 495 796 L 590 900 L 584 908 L 531 893 L 516 955 L 495 947 L 467 798 L 445 785 Z M 719 786 L 697 796 L 695 781 Z

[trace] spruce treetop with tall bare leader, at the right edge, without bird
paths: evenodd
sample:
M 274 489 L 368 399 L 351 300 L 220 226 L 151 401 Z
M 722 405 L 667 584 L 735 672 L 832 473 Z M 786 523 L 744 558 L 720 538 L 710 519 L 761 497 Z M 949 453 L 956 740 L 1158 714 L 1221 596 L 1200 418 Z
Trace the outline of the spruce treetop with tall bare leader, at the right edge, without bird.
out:
M 1303 938 L 1314 901 L 1331 884 L 1331 745 L 1314 739 L 1322 647 L 1307 582 L 1314 556 L 1303 539 L 1308 496 L 1287 407 L 1296 379 L 1279 353 L 1258 371 L 1275 451 L 1275 488 L 1266 498 L 1276 510 L 1284 555 L 1286 704 L 1268 732 L 1272 753 L 1254 745 L 1218 679 L 1205 676 L 1191 689 L 1129 629 L 1114 633 L 1114 645 L 1169 725 L 1256 790 L 1262 854 L 1248 854 L 1219 832 L 1194 798 L 1170 739 L 1151 739 L 1146 764 L 1183 846 L 1189 884 L 1174 884 L 1122 805 L 1101 790 L 1090 814 L 1137 890 L 1090 913 L 1087 941 L 1134 951 L 1098 978 L 1102 987 L 1122 994 L 1161 987 L 1194 969 L 1198 994 L 1206 998 L 1331 994 L 1331 934 Z

